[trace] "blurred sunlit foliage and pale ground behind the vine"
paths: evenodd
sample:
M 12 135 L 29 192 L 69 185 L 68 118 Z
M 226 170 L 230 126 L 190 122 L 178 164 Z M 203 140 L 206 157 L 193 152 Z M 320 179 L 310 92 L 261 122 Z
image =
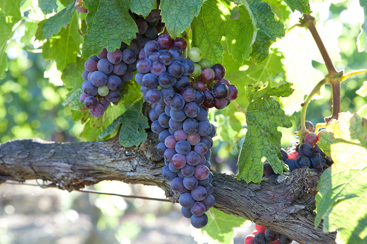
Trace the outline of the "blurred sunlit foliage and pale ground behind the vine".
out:
M 358 52 L 356 45 L 359 26 L 364 21 L 359 1 L 349 1 L 348 5 L 337 0 L 315 1 L 311 9 L 317 10 L 313 15 L 337 37 L 341 57 L 335 61 L 337 70 L 366 68 L 367 53 Z M 299 17 L 299 13 L 291 13 L 285 22 L 287 28 L 297 23 Z M 0 142 L 33 137 L 57 142 L 83 141 L 85 139 L 78 135 L 84 125 L 80 121 L 73 122 L 69 109 L 62 106 L 68 90 L 62 86 L 61 72 L 55 63 L 41 57 L 38 41 L 31 39 L 28 45 L 23 44 L 22 38 L 27 38 L 24 36 L 27 23 L 21 23 L 8 44 L 8 71 L 0 80 Z M 327 73 L 323 64 L 313 61 L 312 65 Z M 284 80 L 282 77 L 284 74 L 277 73 L 271 77 L 272 82 L 279 83 Z M 366 104 L 366 98 L 356 94 L 364 80 L 365 75 L 358 75 L 342 83 L 342 111 L 356 112 Z M 326 86 L 324 92 L 321 99 L 312 100 L 308 106 L 306 118 L 314 124 L 331 115 L 330 86 Z M 225 114 L 226 109 L 210 112 L 210 120 L 218 126 L 211 164 L 217 172 L 236 174 L 246 126 L 236 132 L 235 139 L 227 138 L 225 135 L 231 134 L 225 131 L 226 126 L 221 126 L 229 123 Z M 295 139 L 293 132 L 299 124 L 299 112 L 292 115 L 297 119 L 293 128 L 280 128 L 285 148 Z M 28 183 L 38 184 L 36 181 Z M 165 198 L 163 190 L 157 187 L 116 181 L 102 182 L 91 188 Z M 181 208 L 167 202 L 1 184 L 0 209 L 0 244 L 196 243 L 189 220 L 180 213 Z M 236 228 L 234 243 L 243 243 L 244 237 L 253 230 L 251 222 Z

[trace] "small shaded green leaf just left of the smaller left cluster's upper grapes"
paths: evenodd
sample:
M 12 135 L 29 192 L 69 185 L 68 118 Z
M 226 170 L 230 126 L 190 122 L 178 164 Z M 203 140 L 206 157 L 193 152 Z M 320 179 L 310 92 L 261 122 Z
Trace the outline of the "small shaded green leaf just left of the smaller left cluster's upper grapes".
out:
M 82 77 L 84 71 L 84 62 L 86 60 L 80 57 L 76 58 L 75 63 L 68 64 L 62 71 L 61 80 L 64 86 L 69 90 L 76 90 L 81 87 L 84 79 Z

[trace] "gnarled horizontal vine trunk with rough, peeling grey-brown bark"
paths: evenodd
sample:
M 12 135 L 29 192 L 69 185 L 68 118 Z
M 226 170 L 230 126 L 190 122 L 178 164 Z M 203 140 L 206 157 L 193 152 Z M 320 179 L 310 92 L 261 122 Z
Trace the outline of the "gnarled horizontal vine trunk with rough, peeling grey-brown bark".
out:
M 149 139 L 151 138 L 151 139 Z M 156 185 L 168 198 L 178 200 L 161 177 L 164 162 L 156 153 L 156 139 L 139 147 L 121 147 L 118 139 L 97 142 L 56 143 L 40 139 L 13 140 L 0 145 L 0 183 L 39 179 L 72 191 L 102 180 Z M 316 173 L 308 169 L 282 174 L 261 184 L 237 181 L 214 173 L 215 208 L 249 219 L 301 244 L 335 243 L 335 233 L 315 230 Z

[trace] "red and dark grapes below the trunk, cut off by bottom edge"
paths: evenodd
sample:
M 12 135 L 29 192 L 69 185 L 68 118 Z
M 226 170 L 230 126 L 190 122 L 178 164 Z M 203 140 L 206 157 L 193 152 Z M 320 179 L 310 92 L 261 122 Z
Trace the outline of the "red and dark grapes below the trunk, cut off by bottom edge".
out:
M 291 244 L 292 239 L 261 225 L 255 225 L 256 230 L 245 237 L 245 244 Z

